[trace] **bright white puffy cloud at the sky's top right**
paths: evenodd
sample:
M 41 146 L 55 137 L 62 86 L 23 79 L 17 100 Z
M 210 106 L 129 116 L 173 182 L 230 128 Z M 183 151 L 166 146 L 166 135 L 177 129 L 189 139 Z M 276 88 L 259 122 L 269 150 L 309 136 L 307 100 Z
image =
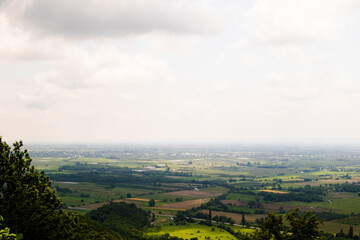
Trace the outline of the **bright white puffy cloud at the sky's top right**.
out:
M 339 6 L 338 0 L 258 0 L 248 14 L 249 31 L 271 44 L 326 41 L 342 24 Z

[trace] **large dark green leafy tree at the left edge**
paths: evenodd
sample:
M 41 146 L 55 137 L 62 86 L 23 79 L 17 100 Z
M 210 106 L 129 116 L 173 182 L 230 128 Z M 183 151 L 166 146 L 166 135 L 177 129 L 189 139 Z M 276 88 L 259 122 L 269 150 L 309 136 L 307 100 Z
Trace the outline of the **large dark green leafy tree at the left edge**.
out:
M 22 142 L 13 148 L 0 137 L 0 215 L 11 231 L 24 239 L 69 239 L 75 214 L 61 210 L 61 200 L 49 177 L 31 166 Z

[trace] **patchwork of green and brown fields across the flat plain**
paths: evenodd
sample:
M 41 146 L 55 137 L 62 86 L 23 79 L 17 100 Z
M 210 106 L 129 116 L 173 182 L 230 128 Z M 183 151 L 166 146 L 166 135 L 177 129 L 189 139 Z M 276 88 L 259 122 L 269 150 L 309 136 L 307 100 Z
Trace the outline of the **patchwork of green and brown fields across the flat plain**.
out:
M 155 214 L 153 225 L 160 230 L 149 229 L 150 235 L 235 239 L 221 229 L 197 224 L 199 220 L 179 228 L 173 219 L 183 211 L 189 218 L 206 220 L 211 212 L 216 221 L 229 224 L 241 224 L 244 216 L 247 226 L 256 228 L 267 213 L 295 208 L 316 213 L 327 232 L 346 232 L 350 225 L 360 231 L 360 221 L 353 221 L 360 216 L 360 164 L 354 152 L 341 157 L 333 152 L 264 150 L 51 154 L 36 156 L 33 163 L 53 180 L 65 208 L 85 214 L 110 202 L 133 203 Z

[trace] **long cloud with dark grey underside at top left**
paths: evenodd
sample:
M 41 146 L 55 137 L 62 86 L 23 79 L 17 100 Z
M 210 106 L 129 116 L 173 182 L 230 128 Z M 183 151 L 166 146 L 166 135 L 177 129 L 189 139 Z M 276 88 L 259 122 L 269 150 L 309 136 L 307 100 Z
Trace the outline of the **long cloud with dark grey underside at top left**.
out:
M 210 6 L 202 1 L 29 0 L 8 1 L 4 8 L 24 27 L 76 38 L 152 31 L 212 33 L 217 31 L 219 22 L 219 16 L 215 21 Z

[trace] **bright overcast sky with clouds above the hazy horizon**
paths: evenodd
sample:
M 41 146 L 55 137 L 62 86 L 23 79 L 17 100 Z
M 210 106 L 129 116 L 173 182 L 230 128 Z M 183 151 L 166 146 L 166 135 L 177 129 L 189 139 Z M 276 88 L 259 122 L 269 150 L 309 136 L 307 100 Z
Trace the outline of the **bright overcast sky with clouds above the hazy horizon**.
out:
M 0 0 L 0 136 L 360 145 L 358 0 Z

